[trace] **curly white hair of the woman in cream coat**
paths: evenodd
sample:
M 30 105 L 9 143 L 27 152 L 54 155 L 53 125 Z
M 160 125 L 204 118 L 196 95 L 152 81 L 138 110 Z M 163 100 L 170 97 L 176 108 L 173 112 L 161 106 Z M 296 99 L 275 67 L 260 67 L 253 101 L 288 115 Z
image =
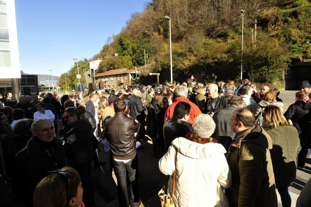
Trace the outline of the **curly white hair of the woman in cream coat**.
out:
M 216 124 L 208 114 L 201 113 L 194 120 L 193 132 L 202 138 L 209 138 L 214 133 Z

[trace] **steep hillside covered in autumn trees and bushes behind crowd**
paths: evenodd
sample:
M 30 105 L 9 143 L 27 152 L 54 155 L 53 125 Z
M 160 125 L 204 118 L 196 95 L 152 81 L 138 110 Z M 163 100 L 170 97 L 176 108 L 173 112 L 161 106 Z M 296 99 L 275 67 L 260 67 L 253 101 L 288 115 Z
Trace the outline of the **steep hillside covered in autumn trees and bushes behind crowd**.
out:
M 239 79 L 244 10 L 244 78 L 278 80 L 291 58 L 311 58 L 311 3 L 308 0 L 153 0 L 142 13 L 133 13 L 119 34 L 112 34 L 91 60 L 101 58 L 96 73 L 144 65 L 169 80 L 171 17 L 173 79 L 192 74 L 198 81 Z M 253 35 L 257 20 L 257 36 Z M 118 53 L 118 56 L 112 57 Z M 144 68 L 144 67 L 143 67 Z M 141 78 L 144 83 L 148 77 Z

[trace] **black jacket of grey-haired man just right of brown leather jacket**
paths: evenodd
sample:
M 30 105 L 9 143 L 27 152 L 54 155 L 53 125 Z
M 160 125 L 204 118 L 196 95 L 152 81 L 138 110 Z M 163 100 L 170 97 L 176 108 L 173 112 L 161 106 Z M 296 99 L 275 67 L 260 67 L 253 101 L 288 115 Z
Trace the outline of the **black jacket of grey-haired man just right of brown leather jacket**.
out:
M 146 107 L 142 105 L 142 99 L 137 95 L 132 95 L 132 98 L 128 101 L 130 108 L 130 116 L 136 118 L 139 122 L 144 122 L 146 118 Z

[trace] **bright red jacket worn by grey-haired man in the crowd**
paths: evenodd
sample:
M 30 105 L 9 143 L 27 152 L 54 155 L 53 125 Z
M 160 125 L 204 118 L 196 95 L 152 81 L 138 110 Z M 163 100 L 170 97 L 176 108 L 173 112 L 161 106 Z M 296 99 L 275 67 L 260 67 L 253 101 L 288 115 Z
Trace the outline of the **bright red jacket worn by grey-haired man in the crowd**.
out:
M 164 117 L 164 122 L 166 122 L 169 118 L 171 118 L 173 116 L 174 113 L 174 108 L 177 105 L 178 102 L 187 102 L 190 104 L 191 109 L 190 109 L 190 118 L 188 120 L 188 122 L 192 123 L 192 127 L 193 127 L 193 123 L 194 123 L 194 119 L 201 114 L 201 110 L 199 109 L 199 107 L 197 105 L 195 105 L 194 103 L 192 103 L 191 101 L 189 101 L 186 97 L 177 97 L 174 101 L 174 103 L 172 103 L 167 109 L 166 109 L 166 113 L 165 113 L 165 117 Z

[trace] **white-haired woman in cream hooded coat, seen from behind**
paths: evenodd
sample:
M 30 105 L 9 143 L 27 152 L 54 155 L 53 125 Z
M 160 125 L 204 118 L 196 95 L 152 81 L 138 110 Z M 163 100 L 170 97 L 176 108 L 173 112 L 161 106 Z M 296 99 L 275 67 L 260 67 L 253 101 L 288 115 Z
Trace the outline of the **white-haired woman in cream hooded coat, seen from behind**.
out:
M 159 168 L 170 175 L 168 194 L 178 206 L 229 206 L 223 189 L 231 185 L 225 148 L 210 137 L 216 124 L 208 114 L 194 120 L 193 132 L 173 140 Z M 176 171 L 175 193 L 171 194 Z

